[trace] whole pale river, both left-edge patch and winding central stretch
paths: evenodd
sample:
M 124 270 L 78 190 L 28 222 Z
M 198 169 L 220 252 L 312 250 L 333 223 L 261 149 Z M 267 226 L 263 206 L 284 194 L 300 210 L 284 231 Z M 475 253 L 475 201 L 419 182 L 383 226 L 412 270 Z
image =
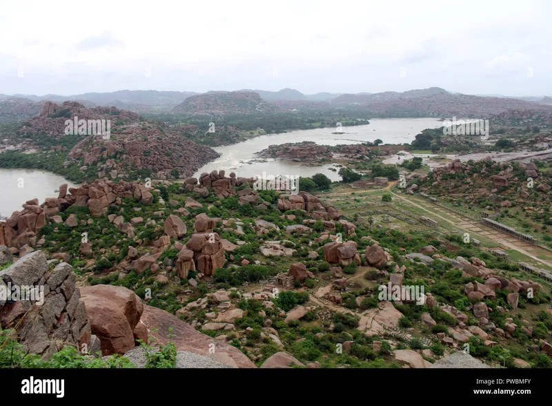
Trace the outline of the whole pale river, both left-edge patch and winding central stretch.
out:
M 321 145 L 359 144 L 382 139 L 384 144 L 404 144 L 412 142 L 425 128 L 437 128 L 442 122 L 435 118 L 372 119 L 365 126 L 343 127 L 344 133 L 332 134 L 336 128 L 317 128 L 313 130 L 290 131 L 284 134 L 262 135 L 245 142 L 214 148 L 221 157 L 209 162 L 195 173 L 198 176 L 213 169 L 224 169 L 226 173 L 235 171 L 238 176 L 255 175 L 298 175 L 310 177 L 324 173 L 331 180 L 340 180 L 337 171 L 330 171 L 333 165 L 304 166 L 301 162 L 281 160 L 259 160 L 255 155 L 273 144 L 313 141 Z M 261 162 L 262 161 L 262 162 Z M 21 180 L 23 182 L 21 182 Z M 63 183 L 69 187 L 78 186 L 68 182 L 60 175 L 34 169 L 0 169 L 0 184 L 3 192 L 0 196 L 0 215 L 9 217 L 13 211 L 21 210 L 21 204 L 27 200 L 39 199 L 42 204 L 46 197 L 57 197 L 57 189 Z M 22 186 L 22 187 L 18 187 Z

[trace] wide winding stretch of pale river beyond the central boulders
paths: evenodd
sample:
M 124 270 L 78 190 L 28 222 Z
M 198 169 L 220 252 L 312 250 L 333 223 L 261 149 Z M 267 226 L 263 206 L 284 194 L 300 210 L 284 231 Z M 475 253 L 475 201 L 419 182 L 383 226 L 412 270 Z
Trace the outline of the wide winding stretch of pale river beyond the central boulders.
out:
M 310 177 L 316 173 L 324 173 L 331 180 L 341 180 L 337 171 L 330 171 L 333 165 L 304 166 L 301 162 L 262 159 L 255 154 L 270 145 L 286 144 L 288 142 L 313 141 L 320 145 L 360 144 L 381 139 L 384 144 L 410 143 L 416 135 L 426 128 L 438 128 L 442 122 L 435 118 L 400 118 L 400 119 L 371 119 L 365 126 L 343 127 L 344 133 L 332 134 L 335 127 L 316 128 L 314 130 L 297 130 L 284 134 L 261 135 L 238 144 L 219 146 L 214 148 L 221 154 L 213 162 L 199 168 L 194 174 L 224 169 L 226 174 L 235 172 L 240 177 L 267 175 L 299 175 Z M 309 165 L 311 165 L 309 163 Z

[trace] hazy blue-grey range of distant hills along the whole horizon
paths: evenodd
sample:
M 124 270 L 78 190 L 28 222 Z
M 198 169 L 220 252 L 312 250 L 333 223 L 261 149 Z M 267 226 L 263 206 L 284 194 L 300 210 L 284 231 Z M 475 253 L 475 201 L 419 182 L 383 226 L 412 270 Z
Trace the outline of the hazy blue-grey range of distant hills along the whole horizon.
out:
M 382 93 L 316 93 L 305 95 L 295 89 L 277 92 L 237 90 L 208 93 L 119 90 L 81 95 L 0 95 L 0 123 L 36 115 L 43 101 L 78 101 L 87 108 L 115 106 L 135 113 L 179 115 L 228 115 L 261 113 L 359 112 L 373 117 L 474 117 L 488 118 L 506 110 L 549 110 L 550 97 L 495 97 L 464 95 L 443 88 Z

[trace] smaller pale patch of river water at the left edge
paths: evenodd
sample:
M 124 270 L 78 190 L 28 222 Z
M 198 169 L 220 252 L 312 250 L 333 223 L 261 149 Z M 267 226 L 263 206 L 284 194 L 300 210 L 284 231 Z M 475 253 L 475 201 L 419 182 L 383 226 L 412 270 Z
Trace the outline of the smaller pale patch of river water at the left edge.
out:
M 16 210 L 22 210 L 21 204 L 35 197 L 42 204 L 46 197 L 57 197 L 55 192 L 61 184 L 78 186 L 68 182 L 55 173 L 37 169 L 0 169 L 0 215 L 10 217 Z

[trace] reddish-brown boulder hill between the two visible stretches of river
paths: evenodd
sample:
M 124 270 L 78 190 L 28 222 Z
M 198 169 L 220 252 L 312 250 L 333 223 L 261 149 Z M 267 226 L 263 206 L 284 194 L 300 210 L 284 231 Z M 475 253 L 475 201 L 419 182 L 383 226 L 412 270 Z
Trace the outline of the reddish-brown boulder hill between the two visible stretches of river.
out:
M 87 120 L 87 124 L 88 120 L 105 120 L 110 133 L 90 131 L 88 126 L 79 132 L 79 124 L 72 134 L 66 134 L 66 122 L 74 123 L 75 117 Z M 44 162 L 45 168 L 56 172 L 71 170 L 68 175 L 73 174 L 73 178 L 77 171 L 112 180 L 147 176 L 171 179 L 189 176 L 219 156 L 212 148 L 185 137 L 187 129 L 143 122 L 137 113 L 114 106 L 86 108 L 76 101 L 61 105 L 46 101 L 40 114 L 19 128 L 12 141 L 19 145 L 23 140 L 26 148 L 38 147 L 39 154 L 55 153 L 56 157 L 49 155 L 43 160 L 37 155 L 35 162 Z M 197 127 L 189 129 L 197 132 Z M 60 167 L 49 166 L 54 162 Z

